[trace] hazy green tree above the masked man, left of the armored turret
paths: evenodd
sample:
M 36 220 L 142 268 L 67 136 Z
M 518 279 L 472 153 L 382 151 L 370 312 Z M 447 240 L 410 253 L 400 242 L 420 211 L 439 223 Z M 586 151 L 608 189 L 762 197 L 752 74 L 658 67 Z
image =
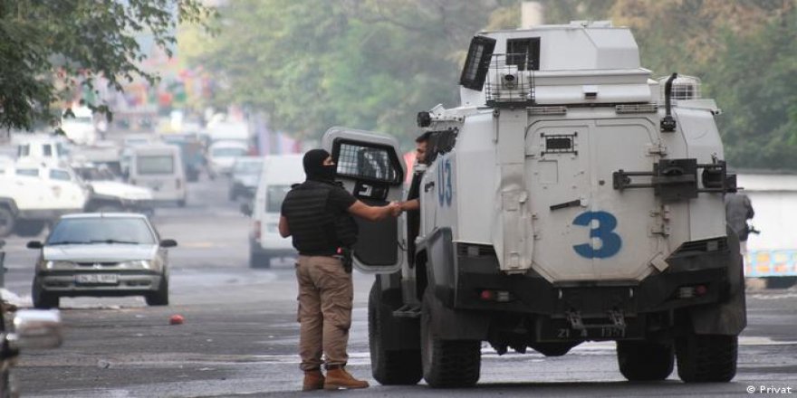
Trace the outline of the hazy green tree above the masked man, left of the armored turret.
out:
M 346 125 L 408 137 L 419 110 L 456 105 L 468 41 L 515 4 L 238 0 L 220 10 L 216 40 L 184 53 L 216 74 L 221 103 L 264 111 L 275 129 L 319 137 Z

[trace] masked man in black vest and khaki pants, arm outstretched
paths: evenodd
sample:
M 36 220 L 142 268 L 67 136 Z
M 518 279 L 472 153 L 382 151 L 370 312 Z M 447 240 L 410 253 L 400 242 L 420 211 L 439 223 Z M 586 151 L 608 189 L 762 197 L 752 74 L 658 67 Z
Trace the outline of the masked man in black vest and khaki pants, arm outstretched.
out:
M 308 151 L 303 166 L 307 179 L 285 196 L 279 223 L 280 234 L 293 236 L 293 247 L 299 251 L 302 390 L 365 388 L 368 382 L 355 379 L 344 368 L 349 360 L 346 347 L 353 298 L 351 246 L 357 241 L 351 214 L 376 221 L 398 216 L 401 209 L 396 203 L 363 204 L 337 185 L 335 164 L 323 149 Z

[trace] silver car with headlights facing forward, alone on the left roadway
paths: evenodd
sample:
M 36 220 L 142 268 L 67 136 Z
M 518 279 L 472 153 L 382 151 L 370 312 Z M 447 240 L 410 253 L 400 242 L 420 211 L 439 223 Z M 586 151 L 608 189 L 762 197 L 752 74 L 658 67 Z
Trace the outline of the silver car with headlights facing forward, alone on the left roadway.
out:
M 58 308 L 62 297 L 139 296 L 168 305 L 168 251 L 149 218 L 137 213 L 64 215 L 41 250 L 34 276 L 35 308 Z

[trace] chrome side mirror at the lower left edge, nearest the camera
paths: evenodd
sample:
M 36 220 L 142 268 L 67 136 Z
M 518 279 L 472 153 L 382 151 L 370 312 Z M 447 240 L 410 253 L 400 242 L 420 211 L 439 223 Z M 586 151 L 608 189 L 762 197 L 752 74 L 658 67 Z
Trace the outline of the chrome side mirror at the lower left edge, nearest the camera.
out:
M 8 336 L 14 348 L 55 348 L 61 346 L 61 312 L 57 309 L 20 309 L 14 315 L 14 329 Z

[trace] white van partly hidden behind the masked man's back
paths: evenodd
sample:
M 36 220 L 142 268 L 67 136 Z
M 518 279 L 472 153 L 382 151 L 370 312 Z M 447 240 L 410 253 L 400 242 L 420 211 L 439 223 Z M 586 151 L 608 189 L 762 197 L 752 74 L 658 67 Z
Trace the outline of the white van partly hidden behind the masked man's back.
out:
M 280 236 L 280 210 L 291 185 L 302 181 L 304 168 L 301 154 L 265 156 L 260 183 L 254 194 L 253 208 L 245 212 L 252 216 L 252 229 L 249 233 L 250 267 L 269 268 L 271 259 L 296 255 L 291 239 Z

